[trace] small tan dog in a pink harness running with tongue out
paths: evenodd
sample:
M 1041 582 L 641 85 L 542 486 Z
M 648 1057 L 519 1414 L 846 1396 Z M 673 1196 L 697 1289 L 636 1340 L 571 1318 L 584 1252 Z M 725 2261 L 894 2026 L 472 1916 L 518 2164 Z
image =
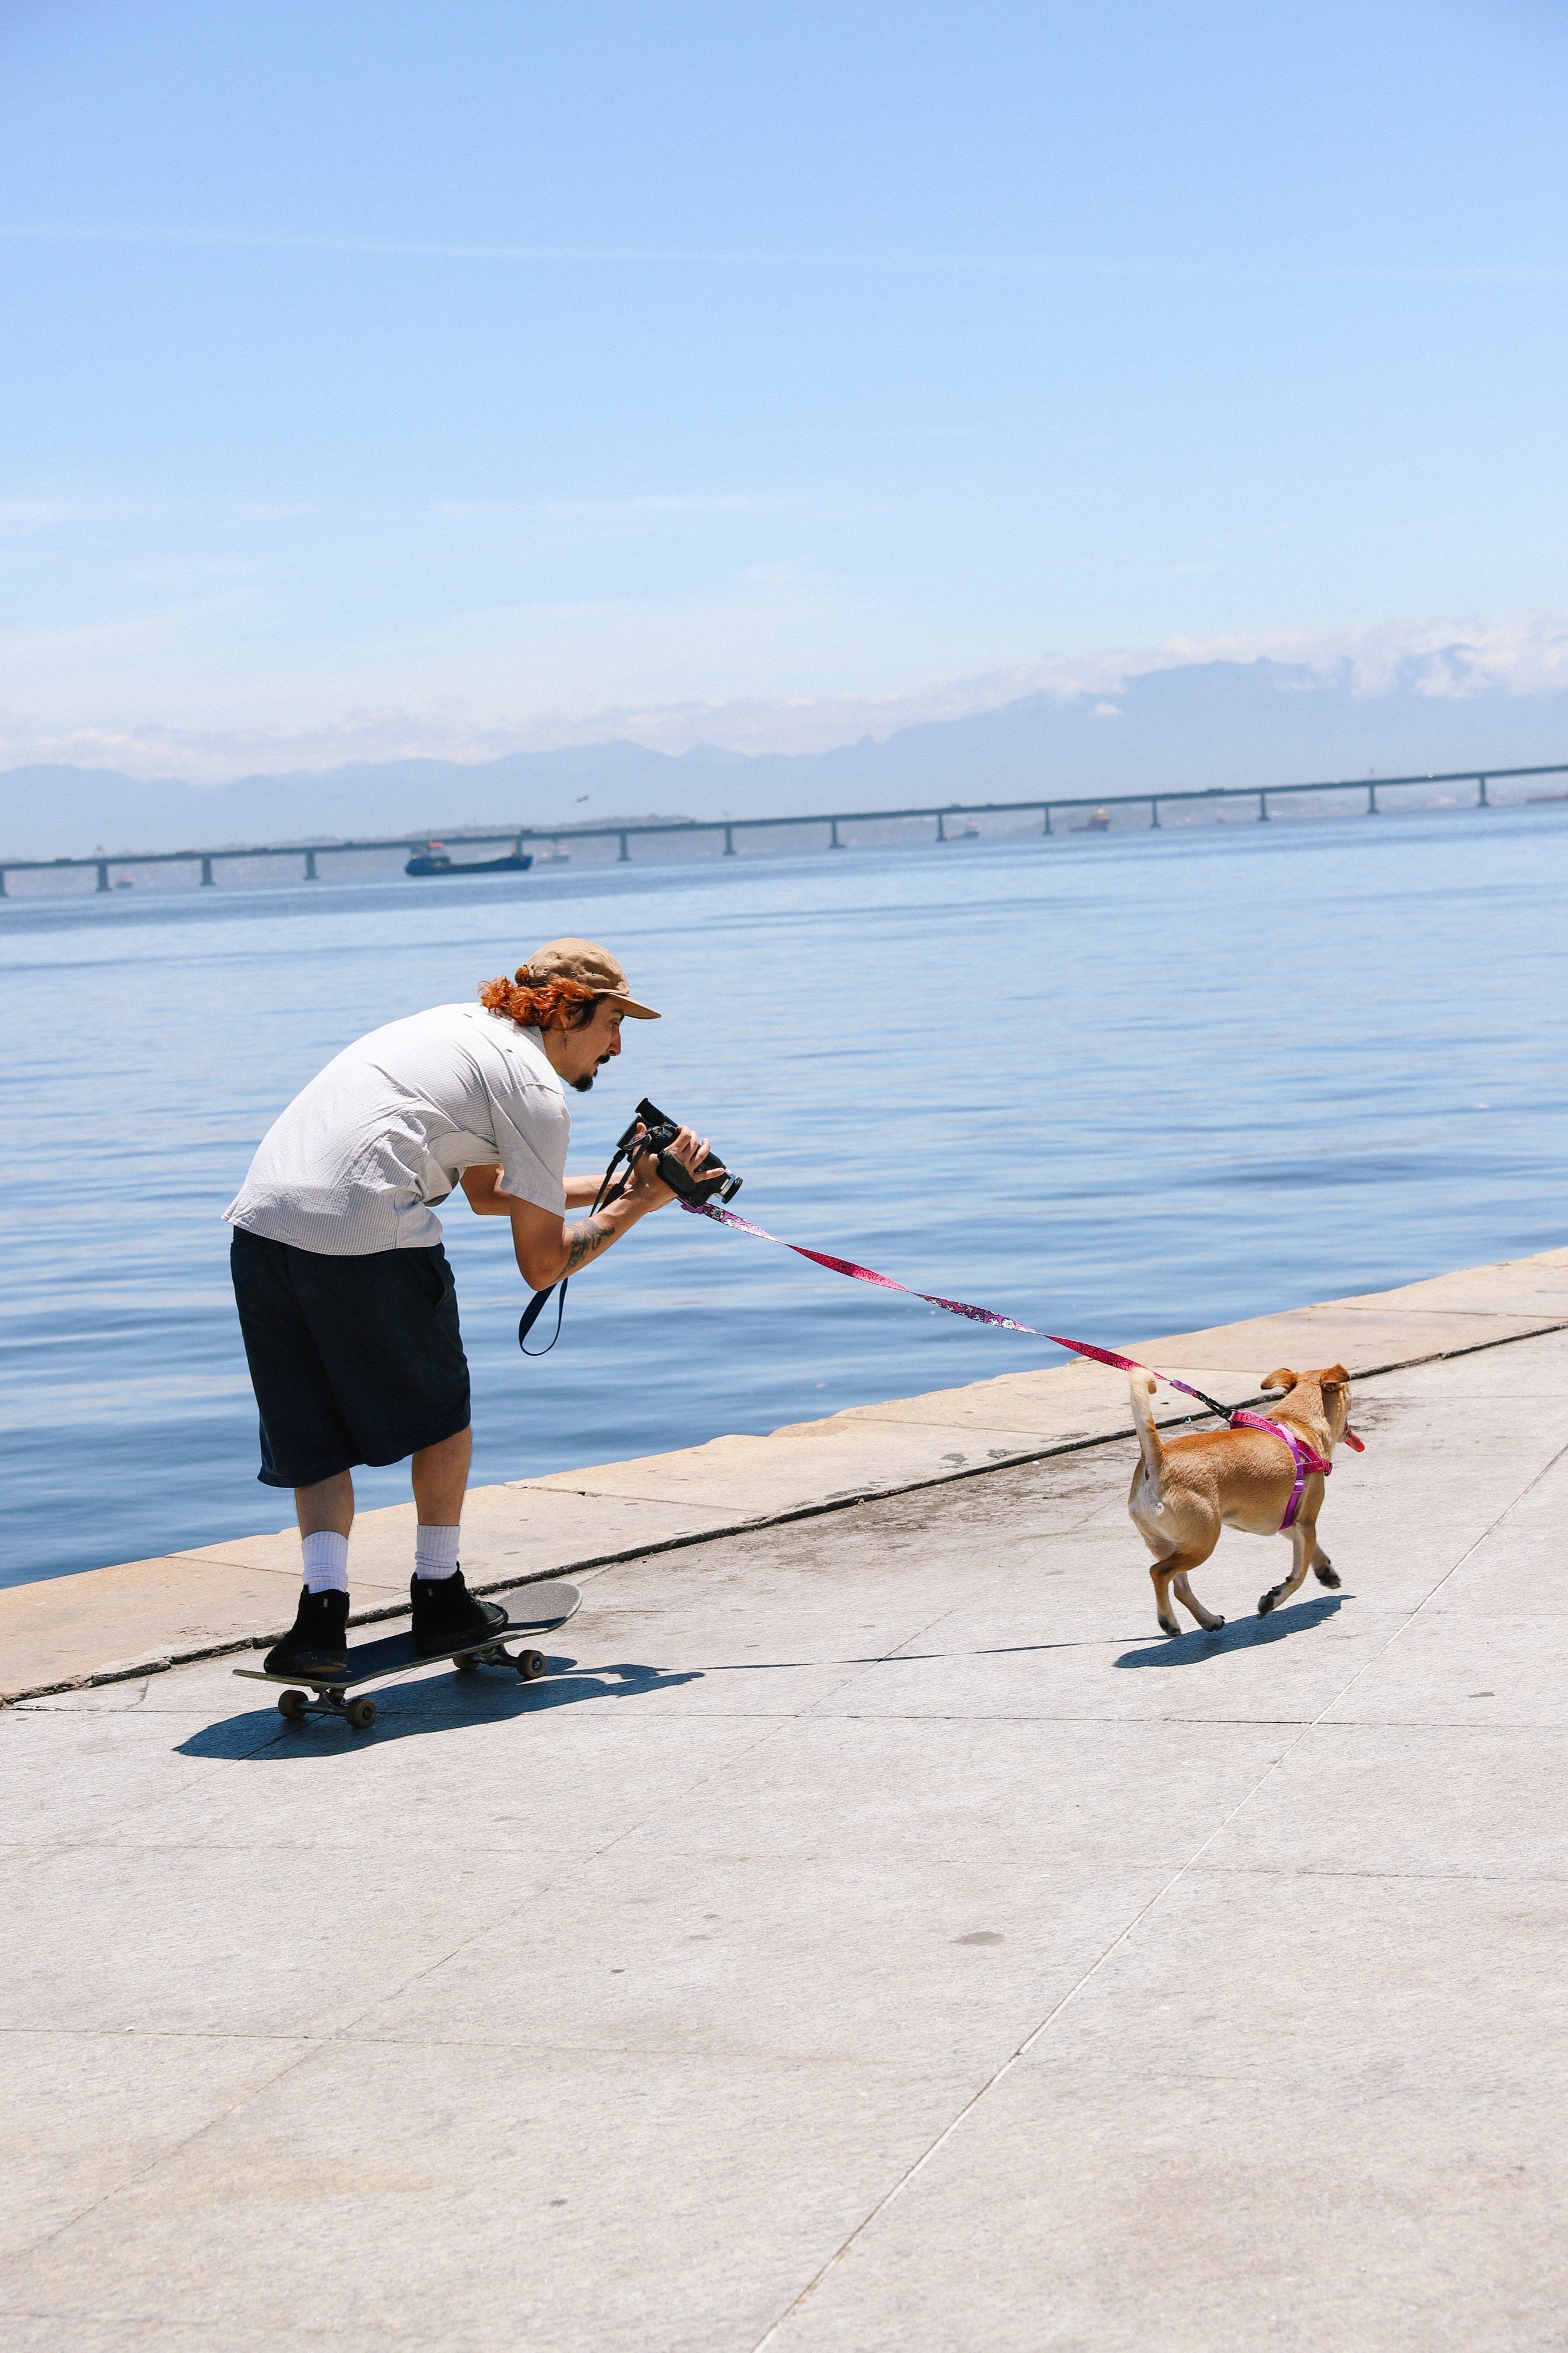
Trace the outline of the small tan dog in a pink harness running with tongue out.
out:
M 1149 1412 L 1156 1388 L 1154 1374 L 1132 1372 L 1132 1419 L 1137 1424 L 1140 1466 L 1132 1473 L 1128 1511 L 1132 1525 L 1154 1553 L 1154 1605 L 1163 1633 L 1180 1633 L 1170 1595 L 1191 1609 L 1198 1626 L 1215 1631 L 1224 1619 L 1212 1617 L 1196 1598 L 1187 1577 L 1201 1567 L 1220 1544 L 1222 1527 L 1245 1527 L 1250 1537 L 1288 1534 L 1293 1546 L 1290 1577 L 1257 1602 L 1257 1614 L 1267 1617 L 1278 1602 L 1290 1600 L 1295 1588 L 1316 1572 L 1321 1586 L 1337 1586 L 1333 1562 L 1318 1546 L 1318 1511 L 1323 1508 L 1326 1473 L 1311 1461 L 1326 1464 L 1342 1438 L 1354 1447 L 1361 1440 L 1349 1431 L 1349 1374 L 1344 1365 L 1328 1365 L 1323 1372 L 1264 1374 L 1264 1388 L 1288 1391 L 1288 1400 L 1269 1414 L 1302 1447 L 1295 1449 L 1269 1431 L 1229 1428 L 1194 1431 L 1189 1438 L 1161 1438 Z M 1285 1527 L 1285 1513 L 1297 1485 L 1297 1473 L 1307 1471 L 1297 1511 Z

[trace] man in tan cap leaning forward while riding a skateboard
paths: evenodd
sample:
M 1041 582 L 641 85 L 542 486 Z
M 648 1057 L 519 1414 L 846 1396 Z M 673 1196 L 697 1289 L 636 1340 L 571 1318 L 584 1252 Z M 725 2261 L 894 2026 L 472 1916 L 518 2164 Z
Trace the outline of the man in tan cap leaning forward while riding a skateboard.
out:
M 544 1292 L 676 1195 L 652 1155 L 577 1226 L 598 1181 L 567 1176 L 565 1089 L 622 1052 L 622 1021 L 657 1021 L 591 939 L 553 939 L 476 1005 L 388 1021 L 330 1061 L 273 1120 L 224 1212 L 233 1292 L 261 1409 L 266 1487 L 292 1487 L 304 1591 L 268 1675 L 348 1664 L 353 1466 L 412 1457 L 414 1649 L 440 1657 L 506 1612 L 469 1593 L 457 1537 L 469 1482 L 469 1365 L 433 1205 L 457 1184 L 509 1217 L 523 1280 Z M 706 1139 L 680 1129 L 695 1169 Z

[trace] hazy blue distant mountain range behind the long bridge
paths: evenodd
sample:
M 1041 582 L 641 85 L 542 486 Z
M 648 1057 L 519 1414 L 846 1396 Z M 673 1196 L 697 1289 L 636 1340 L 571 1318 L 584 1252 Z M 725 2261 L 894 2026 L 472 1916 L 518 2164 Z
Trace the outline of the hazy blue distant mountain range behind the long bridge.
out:
M 1568 760 L 1568 694 L 1384 694 L 1278 661 L 1208 661 L 1118 694 L 1031 694 L 1003 711 L 904 727 L 822 753 L 687 753 L 584 744 L 504 760 L 391 760 L 235 784 L 113 769 L 0 772 L 0 856 L 332 840 L 461 826 L 607 824 L 612 812 L 793 816 L 902 802 L 1297 784 Z

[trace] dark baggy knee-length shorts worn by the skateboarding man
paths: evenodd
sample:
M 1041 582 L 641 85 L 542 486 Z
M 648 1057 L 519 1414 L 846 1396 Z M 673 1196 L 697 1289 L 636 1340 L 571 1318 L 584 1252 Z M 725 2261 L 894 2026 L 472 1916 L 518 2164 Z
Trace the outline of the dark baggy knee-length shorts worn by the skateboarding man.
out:
M 469 1428 L 447 1254 L 330 1259 L 235 1226 L 228 1252 L 268 1487 L 396 1464 Z

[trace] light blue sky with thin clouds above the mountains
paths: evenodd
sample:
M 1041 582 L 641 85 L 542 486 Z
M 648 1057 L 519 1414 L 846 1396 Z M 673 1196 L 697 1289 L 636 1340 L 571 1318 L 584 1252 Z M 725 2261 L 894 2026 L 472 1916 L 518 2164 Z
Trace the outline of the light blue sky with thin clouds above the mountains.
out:
M 0 758 L 1563 685 L 1566 96 L 1537 0 L 0 0 Z

